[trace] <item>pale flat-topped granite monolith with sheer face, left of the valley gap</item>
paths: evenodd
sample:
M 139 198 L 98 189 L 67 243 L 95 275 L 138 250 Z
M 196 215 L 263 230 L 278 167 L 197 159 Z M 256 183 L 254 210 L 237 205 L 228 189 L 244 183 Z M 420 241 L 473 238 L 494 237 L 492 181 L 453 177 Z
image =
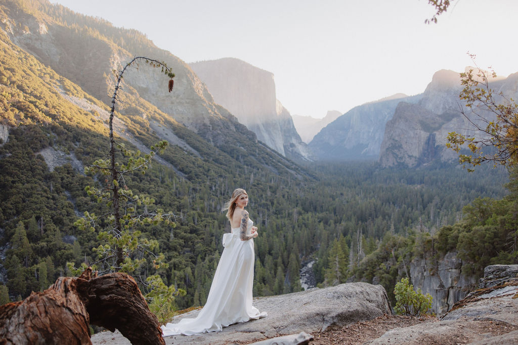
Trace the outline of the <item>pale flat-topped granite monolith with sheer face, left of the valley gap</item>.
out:
M 276 98 L 274 74 L 236 58 L 190 64 L 214 101 L 234 114 L 257 139 L 281 155 L 306 160 L 306 144 L 290 112 Z

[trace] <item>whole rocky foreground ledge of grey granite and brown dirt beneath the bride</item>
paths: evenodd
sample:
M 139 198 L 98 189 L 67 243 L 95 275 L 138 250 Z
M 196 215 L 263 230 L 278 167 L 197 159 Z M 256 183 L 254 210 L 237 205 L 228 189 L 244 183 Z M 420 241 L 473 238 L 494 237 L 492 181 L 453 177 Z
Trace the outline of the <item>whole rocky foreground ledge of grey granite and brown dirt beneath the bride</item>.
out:
M 268 317 L 231 325 L 220 333 L 167 337 L 166 343 L 246 344 L 307 332 L 315 345 L 518 344 L 518 265 L 487 266 L 479 289 L 441 319 L 392 316 L 383 287 L 359 282 L 259 297 L 254 305 Z M 198 312 L 178 318 L 193 318 Z M 130 344 L 120 333 L 111 332 L 94 335 L 92 342 Z

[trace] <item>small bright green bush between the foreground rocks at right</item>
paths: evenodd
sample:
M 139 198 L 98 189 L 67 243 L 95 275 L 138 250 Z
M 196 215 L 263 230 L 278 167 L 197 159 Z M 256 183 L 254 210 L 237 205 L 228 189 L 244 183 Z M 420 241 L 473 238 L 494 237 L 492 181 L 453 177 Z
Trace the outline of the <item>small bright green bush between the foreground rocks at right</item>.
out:
M 409 284 L 408 278 L 402 278 L 396 284 L 394 296 L 396 297 L 394 311 L 399 315 L 420 316 L 426 314 L 431 308 L 432 297 L 430 294 L 423 295 L 421 289 L 415 292 L 413 285 Z

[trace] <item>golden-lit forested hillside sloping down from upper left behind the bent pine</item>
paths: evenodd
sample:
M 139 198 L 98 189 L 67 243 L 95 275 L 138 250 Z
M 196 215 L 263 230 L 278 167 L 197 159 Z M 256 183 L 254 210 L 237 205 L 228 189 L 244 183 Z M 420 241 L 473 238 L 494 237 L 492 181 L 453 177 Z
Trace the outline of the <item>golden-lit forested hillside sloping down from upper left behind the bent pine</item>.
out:
M 9 2 L 6 5 L 0 6 L 6 29 L 0 31 L 3 50 L 0 101 L 5 138 L 0 155 L 0 186 L 5 196 L 0 228 L 4 233 L 2 255 L 7 255 L 8 260 L 0 272 L 2 281 L 8 281 L 11 298 L 15 298 L 17 295 L 26 296 L 31 290 L 37 291 L 56 276 L 65 274 L 67 261 L 94 261 L 91 248 L 95 235 L 78 232 L 73 223 L 84 211 L 101 213 L 105 208 L 96 206 L 85 193 L 84 187 L 95 184 L 97 177 L 84 176 L 82 167 L 106 154 L 108 106 L 81 86 L 46 67 L 36 58 L 37 55 L 28 54 L 15 44 L 23 41 L 20 46 L 26 47 L 29 41 L 36 44 L 40 38 L 55 38 L 47 36 L 49 32 L 52 35 L 60 31 L 74 33 L 39 10 L 48 13 L 64 11 L 72 16 L 70 12 L 45 2 L 34 6 L 28 2 Z M 21 7 L 17 7 L 19 5 Z M 76 17 L 75 22 L 95 22 L 79 15 Z M 109 27 L 106 23 L 101 24 Z M 24 34 L 24 26 L 29 25 L 47 29 L 41 33 Z M 116 47 L 92 29 L 84 28 L 81 32 L 94 32 L 90 41 L 109 42 L 109 46 Z M 30 36 L 30 39 L 23 35 Z M 79 36 L 76 39 L 79 40 Z M 42 49 L 49 49 L 49 44 L 60 46 L 57 41 L 47 43 L 38 44 L 44 46 Z M 46 61 L 45 58 L 42 60 Z M 74 62 L 73 59 L 71 61 Z M 79 66 L 77 69 L 81 70 Z M 127 76 L 157 73 L 150 70 L 152 68 L 141 66 L 138 70 L 128 71 Z M 167 79 L 157 75 L 156 84 L 160 80 L 162 83 L 156 92 L 168 96 L 178 93 L 191 98 L 194 105 L 184 104 L 183 107 L 189 112 L 205 109 L 205 114 L 198 113 L 200 118 L 212 114 L 205 116 L 203 122 L 188 124 L 197 132 L 179 123 L 172 116 L 176 114 L 164 113 L 139 97 L 131 87 L 132 77 L 125 78 L 116 119 L 118 140 L 130 148 L 147 152 L 147 147 L 160 139 L 171 143 L 161 155 L 160 164 L 153 164 L 146 175 L 130 177 L 127 183 L 136 191 L 150 194 L 157 205 L 178 215 L 174 230 L 170 227 L 142 229 L 154 238 L 161 238 L 161 250 L 167 253 L 168 262 L 175 262 L 167 275 L 171 283 L 176 281 L 178 287 L 189 286 L 194 277 L 199 281 L 202 275 L 205 276 L 203 272 L 194 272 L 200 255 L 205 259 L 204 269 L 210 269 L 211 263 L 206 255 L 210 252 L 213 260 L 212 254 L 221 247 L 221 229 L 227 226 L 219 210 L 235 186 L 247 188 L 251 195 L 255 190 L 258 191 L 256 195 L 266 191 L 275 194 L 277 188 L 284 189 L 282 186 L 289 185 L 290 180 L 311 178 L 304 169 L 258 143 L 255 134 L 223 108 L 198 97 L 193 91 L 196 83 L 192 80 L 188 86 L 182 87 L 182 80 L 187 83 L 189 78 L 195 78 L 189 71 L 189 68 L 175 70 L 179 74 L 175 81 L 179 82 L 175 82 L 171 94 L 167 92 Z M 83 77 L 76 79 L 81 81 L 80 78 Z M 104 82 L 108 83 L 109 80 Z M 95 94 L 94 91 L 92 93 Z M 213 111 L 207 109 L 209 106 Z M 218 109 L 225 116 L 215 112 Z M 232 136 L 228 135 L 229 132 Z M 269 181 L 268 188 L 263 188 L 265 181 Z M 17 244 L 11 243 L 15 235 L 27 239 L 30 255 L 21 254 Z M 23 257 L 22 264 L 18 261 L 20 257 Z M 45 274 L 31 277 L 30 272 L 35 269 L 37 272 L 45 271 Z M 147 275 L 149 267 L 142 269 Z M 178 281 L 174 277 L 177 274 L 185 280 Z M 198 290 L 201 289 L 200 286 Z M 193 296 L 194 291 L 184 303 L 191 304 Z

